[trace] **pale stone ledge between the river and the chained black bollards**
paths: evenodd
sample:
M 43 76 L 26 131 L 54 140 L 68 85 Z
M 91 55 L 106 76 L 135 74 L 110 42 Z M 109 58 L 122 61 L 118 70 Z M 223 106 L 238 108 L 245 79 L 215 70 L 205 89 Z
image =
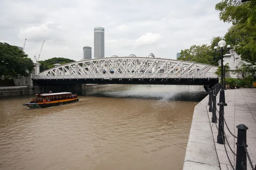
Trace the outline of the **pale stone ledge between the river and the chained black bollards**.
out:
M 183 170 L 220 170 L 207 112 L 208 97 L 195 106 Z

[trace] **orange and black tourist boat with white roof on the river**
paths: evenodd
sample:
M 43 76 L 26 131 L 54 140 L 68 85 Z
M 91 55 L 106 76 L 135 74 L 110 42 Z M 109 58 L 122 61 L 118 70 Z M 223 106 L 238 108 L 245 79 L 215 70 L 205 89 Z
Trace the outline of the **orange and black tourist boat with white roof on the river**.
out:
M 31 99 L 29 103 L 23 104 L 28 108 L 46 108 L 56 105 L 63 105 L 79 101 L 76 94 L 70 92 L 51 93 L 49 94 L 36 94 L 36 99 Z

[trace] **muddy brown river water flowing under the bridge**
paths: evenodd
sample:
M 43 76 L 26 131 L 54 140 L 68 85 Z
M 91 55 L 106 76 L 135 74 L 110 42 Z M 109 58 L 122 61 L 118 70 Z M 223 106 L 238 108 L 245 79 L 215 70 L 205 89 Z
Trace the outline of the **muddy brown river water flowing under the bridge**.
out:
M 1 170 L 178 170 L 199 86 L 120 85 L 79 102 L 27 109 L 0 99 Z

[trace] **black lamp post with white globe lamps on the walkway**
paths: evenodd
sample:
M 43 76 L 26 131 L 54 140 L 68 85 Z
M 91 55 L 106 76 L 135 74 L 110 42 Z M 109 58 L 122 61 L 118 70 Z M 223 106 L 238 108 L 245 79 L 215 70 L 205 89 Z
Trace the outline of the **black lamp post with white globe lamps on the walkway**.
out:
M 221 48 L 220 50 L 217 50 L 218 47 L 215 46 L 214 50 L 215 52 L 221 52 L 221 91 L 220 91 L 220 99 L 219 99 L 219 103 L 218 105 L 220 106 L 219 108 L 219 124 L 218 124 L 218 136 L 217 136 L 217 143 L 218 144 L 224 144 L 225 142 L 225 137 L 224 137 L 224 106 L 227 106 L 227 104 L 225 103 L 225 91 L 223 89 L 223 52 L 224 51 L 229 51 L 230 50 L 230 45 L 227 45 L 228 49 L 224 49 L 226 45 L 226 41 L 224 40 L 220 40 L 218 42 L 218 46 Z

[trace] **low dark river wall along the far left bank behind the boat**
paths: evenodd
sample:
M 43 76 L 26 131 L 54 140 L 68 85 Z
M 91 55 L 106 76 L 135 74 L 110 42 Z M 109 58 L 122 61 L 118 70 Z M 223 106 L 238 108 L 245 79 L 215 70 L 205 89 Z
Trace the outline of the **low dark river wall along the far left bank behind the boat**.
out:
M 29 96 L 33 94 L 43 94 L 69 91 L 75 94 L 81 94 L 81 92 L 86 91 L 87 89 L 93 88 L 103 88 L 108 86 L 116 85 L 99 85 L 99 84 L 80 84 L 80 85 L 55 85 L 55 86 L 12 86 L 12 87 L 0 87 L 0 99 L 17 97 L 17 96 Z

